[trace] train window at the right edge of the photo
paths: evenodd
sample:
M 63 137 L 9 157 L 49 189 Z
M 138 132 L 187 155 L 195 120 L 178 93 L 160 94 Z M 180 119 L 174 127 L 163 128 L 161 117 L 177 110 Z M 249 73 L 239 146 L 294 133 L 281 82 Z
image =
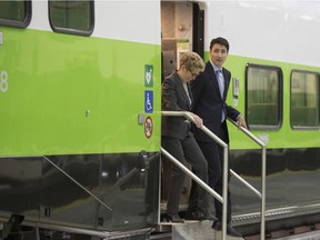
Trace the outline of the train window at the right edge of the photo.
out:
M 292 129 L 319 128 L 319 73 L 291 71 L 290 121 Z

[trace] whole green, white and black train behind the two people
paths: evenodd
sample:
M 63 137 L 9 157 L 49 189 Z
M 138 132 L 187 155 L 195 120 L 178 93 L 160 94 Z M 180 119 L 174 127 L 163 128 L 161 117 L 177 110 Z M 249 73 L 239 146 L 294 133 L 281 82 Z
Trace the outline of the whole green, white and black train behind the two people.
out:
M 3 238 L 22 227 L 150 234 L 166 201 L 161 80 L 186 51 L 207 61 L 219 36 L 230 42 L 228 103 L 267 144 L 266 231 L 320 222 L 319 9 L 290 0 L 0 1 Z M 232 170 L 261 189 L 259 148 L 229 130 Z M 232 221 L 257 233 L 260 199 L 234 179 L 230 188 Z

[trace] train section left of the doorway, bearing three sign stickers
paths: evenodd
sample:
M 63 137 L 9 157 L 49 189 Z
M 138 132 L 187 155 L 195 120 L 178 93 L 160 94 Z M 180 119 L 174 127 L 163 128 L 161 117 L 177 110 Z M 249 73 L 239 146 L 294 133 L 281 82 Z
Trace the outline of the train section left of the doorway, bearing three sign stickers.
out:
M 149 232 L 159 208 L 160 3 L 1 1 L 0 19 L 3 238 L 21 222 Z

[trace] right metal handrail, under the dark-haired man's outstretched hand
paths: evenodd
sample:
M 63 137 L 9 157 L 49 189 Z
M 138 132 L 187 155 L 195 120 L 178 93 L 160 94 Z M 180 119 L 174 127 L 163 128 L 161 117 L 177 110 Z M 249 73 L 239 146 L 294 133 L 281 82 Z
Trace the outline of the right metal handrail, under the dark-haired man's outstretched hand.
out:
M 231 119 L 228 119 L 233 126 L 236 126 L 238 129 L 240 129 L 243 133 L 246 133 L 249 138 L 251 138 L 256 143 L 258 143 L 261 149 L 261 158 L 262 158 L 262 163 L 261 163 L 261 193 L 256 190 L 253 187 L 246 182 L 239 174 L 237 174 L 234 171 L 231 171 L 232 176 L 234 176 L 237 179 L 239 179 L 241 182 L 243 182 L 247 187 L 249 187 L 254 193 L 257 193 L 261 198 L 261 213 L 260 213 L 260 239 L 264 240 L 264 234 L 266 234 L 266 169 L 267 169 L 267 149 L 266 144 L 258 139 L 256 136 L 253 136 L 248 129 L 240 127 L 237 122 L 234 122 Z M 243 180 L 243 181 L 242 181 Z

